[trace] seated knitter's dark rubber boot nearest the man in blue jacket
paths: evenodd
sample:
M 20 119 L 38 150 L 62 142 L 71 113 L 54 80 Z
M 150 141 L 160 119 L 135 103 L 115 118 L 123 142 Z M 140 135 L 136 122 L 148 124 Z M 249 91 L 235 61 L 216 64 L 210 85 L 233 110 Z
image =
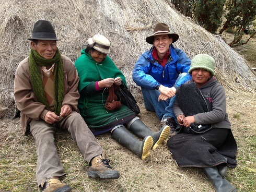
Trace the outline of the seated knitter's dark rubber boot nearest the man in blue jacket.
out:
M 170 134 L 170 127 L 168 125 L 164 125 L 159 131 L 155 132 L 146 126 L 141 119 L 136 119 L 128 128 L 139 138 L 143 139 L 148 135 L 151 136 L 154 141 L 153 150 L 161 145 L 162 141 L 166 140 Z

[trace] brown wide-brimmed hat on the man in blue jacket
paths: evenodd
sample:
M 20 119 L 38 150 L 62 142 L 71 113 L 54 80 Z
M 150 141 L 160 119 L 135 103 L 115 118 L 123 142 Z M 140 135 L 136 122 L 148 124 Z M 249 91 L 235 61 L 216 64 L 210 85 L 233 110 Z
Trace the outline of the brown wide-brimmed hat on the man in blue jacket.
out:
M 153 45 L 155 35 L 160 35 L 160 34 L 168 34 L 169 37 L 172 38 L 172 43 L 176 42 L 179 39 L 178 34 L 170 33 L 170 29 L 168 25 L 166 25 L 166 23 L 159 22 L 157 23 L 153 34 L 146 38 L 146 42 Z

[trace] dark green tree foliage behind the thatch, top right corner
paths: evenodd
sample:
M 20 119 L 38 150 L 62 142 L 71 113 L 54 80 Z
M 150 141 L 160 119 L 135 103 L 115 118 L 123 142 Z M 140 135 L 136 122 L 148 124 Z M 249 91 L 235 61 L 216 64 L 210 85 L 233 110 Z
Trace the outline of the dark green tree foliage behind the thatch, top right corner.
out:
M 222 34 L 226 29 L 235 29 L 234 40 L 230 46 L 246 44 L 256 35 L 256 0 L 170 0 L 171 3 L 185 16 L 193 18 L 199 25 L 211 33 L 219 31 Z M 248 30 L 250 37 L 241 41 Z

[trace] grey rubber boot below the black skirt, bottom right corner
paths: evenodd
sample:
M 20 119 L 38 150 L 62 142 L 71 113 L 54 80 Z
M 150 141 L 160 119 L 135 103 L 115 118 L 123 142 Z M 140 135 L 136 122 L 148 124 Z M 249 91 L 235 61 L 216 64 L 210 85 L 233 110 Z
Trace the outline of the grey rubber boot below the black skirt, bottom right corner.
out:
M 229 183 L 227 179 L 220 176 L 218 168 L 214 167 L 204 167 L 203 168 L 207 176 L 210 178 L 211 182 L 215 187 L 216 192 L 236 192 L 237 189 L 234 185 Z

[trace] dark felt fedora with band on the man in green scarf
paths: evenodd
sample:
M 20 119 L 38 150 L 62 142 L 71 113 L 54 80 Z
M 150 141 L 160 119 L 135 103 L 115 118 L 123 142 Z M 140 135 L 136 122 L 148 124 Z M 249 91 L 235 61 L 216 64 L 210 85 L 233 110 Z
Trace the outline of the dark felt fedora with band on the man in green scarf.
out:
M 32 38 L 28 38 L 28 40 L 53 40 L 58 41 L 54 28 L 50 21 L 46 20 L 38 20 L 34 23 Z

